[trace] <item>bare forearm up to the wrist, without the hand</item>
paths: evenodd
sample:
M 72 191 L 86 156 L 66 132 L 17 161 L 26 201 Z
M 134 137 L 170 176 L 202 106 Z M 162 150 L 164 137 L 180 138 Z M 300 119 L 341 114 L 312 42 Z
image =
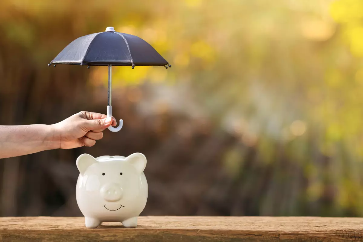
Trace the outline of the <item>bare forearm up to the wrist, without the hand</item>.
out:
M 27 155 L 59 147 L 60 139 L 52 125 L 0 126 L 0 158 Z

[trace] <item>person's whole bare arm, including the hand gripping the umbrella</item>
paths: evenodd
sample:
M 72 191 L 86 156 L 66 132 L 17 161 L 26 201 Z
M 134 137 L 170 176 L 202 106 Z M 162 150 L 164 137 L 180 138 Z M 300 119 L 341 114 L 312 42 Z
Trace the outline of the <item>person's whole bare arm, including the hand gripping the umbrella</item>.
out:
M 56 124 L 0 126 L 0 158 L 48 149 L 93 146 L 110 125 L 116 125 L 115 118 L 82 111 Z

